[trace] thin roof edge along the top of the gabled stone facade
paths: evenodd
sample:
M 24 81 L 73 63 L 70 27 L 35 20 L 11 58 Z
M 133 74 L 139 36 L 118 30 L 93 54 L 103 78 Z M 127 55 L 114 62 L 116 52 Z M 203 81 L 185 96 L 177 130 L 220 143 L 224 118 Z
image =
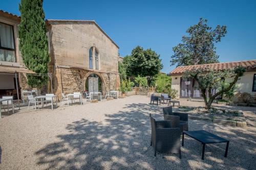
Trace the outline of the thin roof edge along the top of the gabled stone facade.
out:
M 90 23 L 94 23 L 96 27 L 98 27 L 98 29 L 106 36 L 108 37 L 111 42 L 113 42 L 118 48 L 119 46 L 115 43 L 115 41 L 113 41 L 110 36 L 108 34 L 106 34 L 104 32 L 104 30 L 99 27 L 98 23 L 95 20 L 71 20 L 71 19 L 47 19 L 46 22 L 48 22 L 49 24 L 53 24 L 54 22 L 90 22 Z

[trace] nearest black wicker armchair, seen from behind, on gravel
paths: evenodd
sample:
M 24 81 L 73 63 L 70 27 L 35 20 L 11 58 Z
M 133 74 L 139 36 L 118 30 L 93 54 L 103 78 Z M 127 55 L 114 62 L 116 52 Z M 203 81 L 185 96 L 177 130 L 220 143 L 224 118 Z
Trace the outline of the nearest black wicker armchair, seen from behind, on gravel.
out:
M 181 159 L 180 128 L 173 128 L 168 120 L 156 121 L 150 114 L 151 119 L 151 145 L 156 152 L 176 153 Z

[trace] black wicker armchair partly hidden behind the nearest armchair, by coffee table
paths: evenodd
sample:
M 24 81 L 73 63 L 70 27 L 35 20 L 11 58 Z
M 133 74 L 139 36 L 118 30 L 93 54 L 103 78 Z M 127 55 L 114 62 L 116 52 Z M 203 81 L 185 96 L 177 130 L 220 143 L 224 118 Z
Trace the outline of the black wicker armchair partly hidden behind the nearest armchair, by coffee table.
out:
M 183 131 L 188 131 L 188 114 L 187 113 L 178 113 L 173 112 L 172 106 L 163 108 L 164 120 L 170 120 L 179 124 L 181 134 Z M 177 118 L 179 117 L 179 119 Z

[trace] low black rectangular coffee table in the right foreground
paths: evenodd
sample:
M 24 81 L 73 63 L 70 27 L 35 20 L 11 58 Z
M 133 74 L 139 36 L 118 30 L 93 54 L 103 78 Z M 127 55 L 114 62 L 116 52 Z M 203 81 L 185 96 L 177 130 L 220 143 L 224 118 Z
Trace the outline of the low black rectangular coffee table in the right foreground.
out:
M 212 134 L 212 133 L 204 131 L 204 130 L 201 130 L 201 131 L 183 131 L 183 133 L 182 133 L 182 146 L 184 146 L 184 134 L 186 134 L 187 136 L 190 136 L 191 138 L 194 138 L 194 139 L 200 141 L 203 144 L 202 159 L 204 159 L 205 144 L 208 144 L 208 143 L 227 142 L 226 151 L 225 151 L 225 155 L 224 155 L 224 157 L 227 157 L 227 151 L 228 151 L 228 145 L 229 145 L 229 141 L 227 139 L 224 139 L 220 136 L 217 136 L 215 134 Z

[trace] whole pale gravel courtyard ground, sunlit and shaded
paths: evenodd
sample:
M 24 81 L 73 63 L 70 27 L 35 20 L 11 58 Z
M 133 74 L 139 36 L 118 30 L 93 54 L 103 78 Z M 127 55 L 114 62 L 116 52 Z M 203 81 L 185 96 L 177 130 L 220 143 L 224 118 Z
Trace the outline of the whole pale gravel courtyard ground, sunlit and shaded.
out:
M 154 156 L 150 119 L 163 119 L 162 105 L 145 96 L 63 106 L 0 119 L 0 169 L 255 169 L 256 128 L 223 127 L 189 119 L 189 130 L 230 140 L 206 145 L 185 136 L 182 159 Z M 166 106 L 166 105 L 165 105 Z

